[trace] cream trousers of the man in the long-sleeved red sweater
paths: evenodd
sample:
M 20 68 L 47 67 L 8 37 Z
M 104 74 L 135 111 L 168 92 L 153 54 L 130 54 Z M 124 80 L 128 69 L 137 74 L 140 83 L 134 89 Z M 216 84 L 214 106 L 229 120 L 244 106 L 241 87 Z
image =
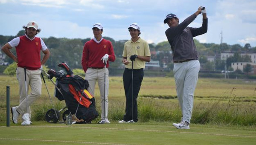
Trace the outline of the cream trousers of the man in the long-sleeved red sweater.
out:
M 104 73 L 106 73 L 106 86 L 105 86 L 105 100 L 104 100 Z M 104 69 L 91 69 L 88 68 L 85 73 L 85 79 L 89 83 L 88 92 L 94 96 L 96 81 L 98 81 L 100 98 L 101 98 L 101 119 L 104 119 L 104 102 L 105 102 L 105 119 L 108 119 L 108 68 Z

